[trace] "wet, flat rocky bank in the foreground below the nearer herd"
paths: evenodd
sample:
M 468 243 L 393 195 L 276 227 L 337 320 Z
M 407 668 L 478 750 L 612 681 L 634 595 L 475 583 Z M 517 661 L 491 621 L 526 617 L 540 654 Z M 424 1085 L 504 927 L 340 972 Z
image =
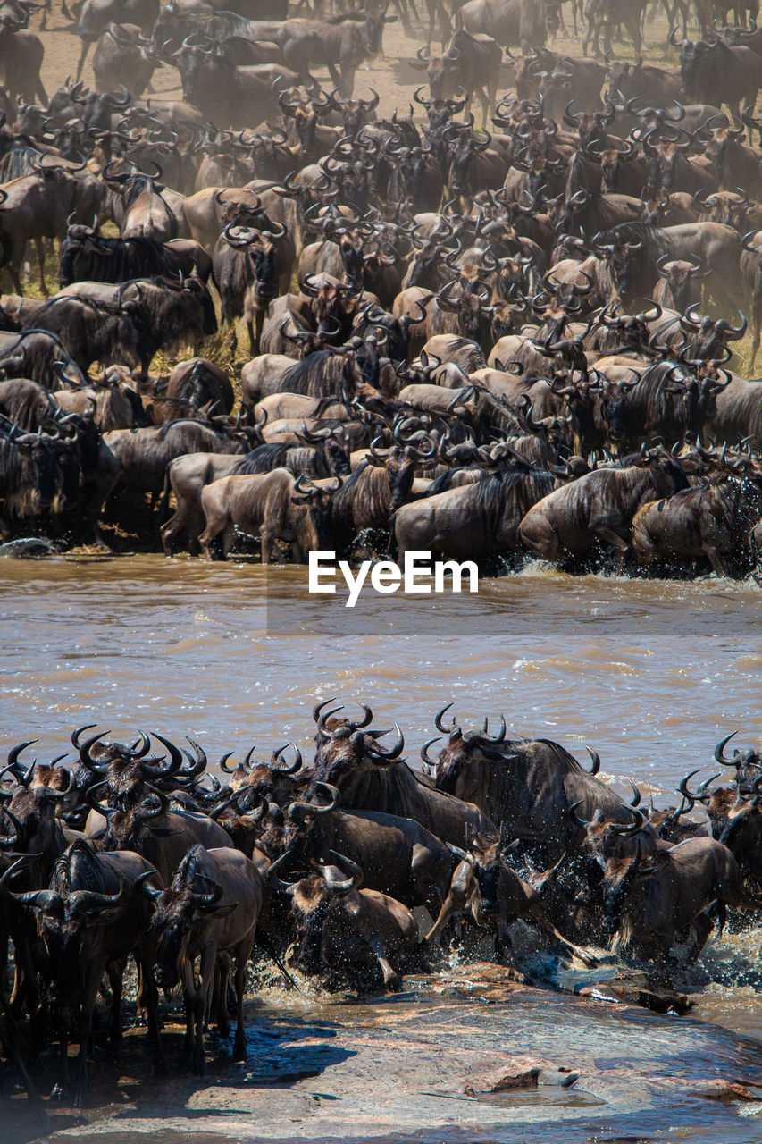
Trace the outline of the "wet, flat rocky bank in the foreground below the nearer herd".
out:
M 165 1032 L 170 1058 L 180 1034 Z M 54 1112 L 40 1131 L 22 1098 L 10 1102 L 5 1144 L 762 1137 L 761 1044 L 531 988 L 494 966 L 408 978 L 402 994 L 354 1003 L 271 991 L 248 1006 L 248 1059 L 232 1064 L 211 1038 L 204 1080 L 154 1081 L 142 1041 L 142 1031 L 126 1038 L 119 1070 L 93 1068 L 100 1088 L 81 1117 Z

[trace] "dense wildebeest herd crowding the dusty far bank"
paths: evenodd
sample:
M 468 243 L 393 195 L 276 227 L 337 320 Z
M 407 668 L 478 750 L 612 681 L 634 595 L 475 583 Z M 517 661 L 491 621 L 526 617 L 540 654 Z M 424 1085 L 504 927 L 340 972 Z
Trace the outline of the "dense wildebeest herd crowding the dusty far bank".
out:
M 427 0 L 424 82 L 387 109 L 355 72 L 408 0 L 85 0 L 95 90 L 49 97 L 39 7 L 0 5 L 6 535 L 105 546 L 105 506 L 167 555 L 238 534 L 264 562 L 359 538 L 491 569 L 754 571 L 762 386 L 733 371 L 762 328 L 754 5 L 730 25 L 665 5 L 656 67 L 612 51 L 641 50 L 642 0 Z M 551 50 L 562 24 L 593 55 Z M 144 94 L 162 64 L 183 100 Z

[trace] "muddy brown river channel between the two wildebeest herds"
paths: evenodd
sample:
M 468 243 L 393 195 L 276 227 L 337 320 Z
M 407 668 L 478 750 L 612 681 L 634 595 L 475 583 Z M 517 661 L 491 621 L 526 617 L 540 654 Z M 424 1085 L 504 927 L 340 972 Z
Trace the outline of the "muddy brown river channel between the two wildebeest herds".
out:
M 318 699 L 363 699 L 407 754 L 454 700 L 465 724 L 557 739 L 644 794 L 674 791 L 738 729 L 762 737 L 762 590 L 753 581 L 572 578 L 539 569 L 479 593 L 310 596 L 307 570 L 159 556 L 0 561 L 0 747 L 51 752 L 98 723 L 209 750 L 309 747 Z M 708 771 L 704 777 L 708 777 Z

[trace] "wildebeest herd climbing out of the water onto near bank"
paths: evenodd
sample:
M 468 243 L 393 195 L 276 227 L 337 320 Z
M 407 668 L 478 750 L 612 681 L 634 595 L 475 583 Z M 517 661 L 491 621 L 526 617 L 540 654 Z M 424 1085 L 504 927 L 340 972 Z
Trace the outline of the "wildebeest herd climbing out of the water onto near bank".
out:
M 586 964 L 608 944 L 645 962 L 664 988 L 715 924 L 722 931 L 728 907 L 757 916 L 762 756 L 728 754 L 732 736 L 714 752 L 732 770 L 729 785 L 713 786 L 719 774 L 699 784 L 694 770 L 678 807 L 651 800 L 645 810 L 634 784 L 625 802 L 596 778 L 594 750 L 588 771 L 548 739 L 509 738 L 503 718 L 497 732 L 487 721 L 467 729 L 444 707 L 435 717 L 443 745 L 435 757 L 437 740 L 422 747 L 422 773 L 403 757 L 398 726 L 384 745 L 390 729 L 373 726 L 366 704 L 359 718 L 332 705 L 313 709 L 312 762 L 291 744 L 267 762 L 254 748 L 238 762 L 227 750 L 211 769 L 193 740 L 178 748 L 141 732 L 127 746 L 93 726 L 72 733 L 72 765 L 64 756 L 27 763 L 22 753 L 34 740 L 9 752 L 0 774 L 0 1046 L 21 1064 L 22 1046 L 37 1060 L 57 1042 L 55 1096 L 87 1099 L 106 977 L 118 1049 L 129 955 L 153 1067 L 177 1064 L 165 1056 L 158 993 L 180 985 L 180 1066 L 204 1073 L 207 1020 L 230 1034 L 231 976 L 232 1052 L 245 1057 L 253 947 L 292 985 L 300 971 L 327 987 L 396 990 L 403 972 L 442 958 L 463 921 L 467 935 L 492 935 L 494 960 L 513 967 L 511 927 L 522 921 L 557 955 Z M 686 817 L 697 808 L 706 820 Z M 412 911 L 421 906 L 429 916 L 419 931 Z M 80 1048 L 71 1086 L 70 1040 Z

